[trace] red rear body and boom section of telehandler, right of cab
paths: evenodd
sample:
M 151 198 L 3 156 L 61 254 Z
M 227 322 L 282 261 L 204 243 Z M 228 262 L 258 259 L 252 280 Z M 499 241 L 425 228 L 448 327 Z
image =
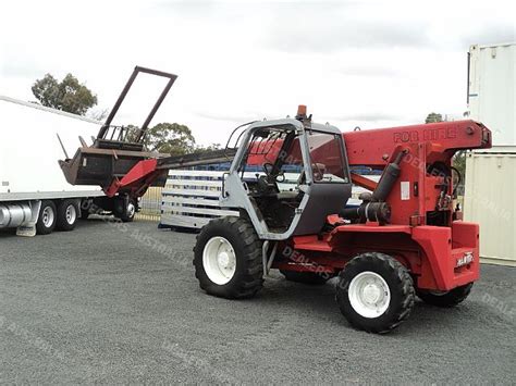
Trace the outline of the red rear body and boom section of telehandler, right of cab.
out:
M 349 259 L 367 251 L 395 257 L 407 266 L 420 289 L 450 290 L 479 278 L 479 226 L 454 221 L 453 201 L 440 208 L 440 223 L 428 225 L 429 214 L 443 192 L 451 196 L 451 175 L 429 172 L 430 165 L 450 170 L 457 150 L 491 147 L 491 132 L 474 121 L 446 122 L 343 134 L 353 165 L 384 169 L 400 151 L 407 151 L 386 202 L 389 224 L 344 224 L 337 215 L 331 232 L 294 237 L 288 257 L 273 267 L 334 275 Z M 373 190 L 371 179 L 353 175 L 356 185 Z M 457 213 L 455 213 L 457 216 Z M 292 252 L 293 250 L 293 252 Z

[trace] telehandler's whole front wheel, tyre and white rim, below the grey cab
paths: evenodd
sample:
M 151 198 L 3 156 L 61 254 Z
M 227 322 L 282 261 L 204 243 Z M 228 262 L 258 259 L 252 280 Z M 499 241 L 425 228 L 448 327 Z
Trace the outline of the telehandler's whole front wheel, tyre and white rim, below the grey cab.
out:
M 195 276 L 210 295 L 228 299 L 250 298 L 261 289 L 261 241 L 247 220 L 210 221 L 194 247 Z

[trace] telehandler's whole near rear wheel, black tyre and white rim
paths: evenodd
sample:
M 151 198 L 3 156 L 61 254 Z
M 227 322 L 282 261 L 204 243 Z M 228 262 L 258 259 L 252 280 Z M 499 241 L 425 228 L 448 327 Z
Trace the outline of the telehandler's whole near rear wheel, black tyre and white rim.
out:
M 388 254 L 359 254 L 339 277 L 336 301 L 356 328 L 388 333 L 406 320 L 414 308 L 413 279 L 407 269 Z

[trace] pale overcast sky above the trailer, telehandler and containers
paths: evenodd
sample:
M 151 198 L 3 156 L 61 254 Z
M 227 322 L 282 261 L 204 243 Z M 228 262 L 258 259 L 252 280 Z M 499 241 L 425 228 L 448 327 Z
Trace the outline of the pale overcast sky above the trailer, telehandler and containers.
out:
M 72 73 L 110 109 L 135 65 L 179 75 L 152 124 L 225 142 L 239 123 L 294 115 L 342 130 L 466 111 L 466 52 L 514 41 L 516 8 L 484 1 L 2 1 L 0 95 L 34 100 Z M 118 123 L 142 124 L 142 78 Z

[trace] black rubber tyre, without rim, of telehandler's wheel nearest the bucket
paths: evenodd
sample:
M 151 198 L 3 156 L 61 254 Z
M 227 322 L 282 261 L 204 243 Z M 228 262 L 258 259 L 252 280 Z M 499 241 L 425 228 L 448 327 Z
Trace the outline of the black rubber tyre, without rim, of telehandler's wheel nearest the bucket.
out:
M 236 265 L 234 274 L 225 284 L 217 284 L 208 277 L 204 264 L 204 252 L 208 241 L 223 237 L 231 244 Z M 195 276 L 206 292 L 226 299 L 250 298 L 263 285 L 261 241 L 251 223 L 239 217 L 222 217 L 210 221 L 197 236 L 194 247 Z

